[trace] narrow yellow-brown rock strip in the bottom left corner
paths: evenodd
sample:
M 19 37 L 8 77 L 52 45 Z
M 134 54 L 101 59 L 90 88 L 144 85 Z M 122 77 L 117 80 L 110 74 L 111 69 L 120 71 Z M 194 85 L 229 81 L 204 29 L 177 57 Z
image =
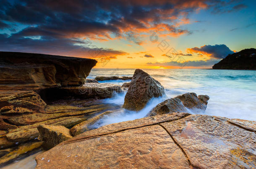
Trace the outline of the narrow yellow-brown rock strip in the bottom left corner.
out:
M 0 158 L 0 165 L 5 163 L 5 162 L 8 162 L 8 161 L 10 161 L 12 159 L 17 158 L 21 154 L 24 154 L 24 153 L 26 153 L 28 151 L 32 151 L 34 149 L 37 149 L 42 144 L 43 144 L 43 141 L 37 141 L 37 142 L 34 142 L 34 143 L 21 144 L 16 149 L 14 149 L 13 151 L 10 151 L 8 154 L 5 154 L 4 156 L 2 156 Z

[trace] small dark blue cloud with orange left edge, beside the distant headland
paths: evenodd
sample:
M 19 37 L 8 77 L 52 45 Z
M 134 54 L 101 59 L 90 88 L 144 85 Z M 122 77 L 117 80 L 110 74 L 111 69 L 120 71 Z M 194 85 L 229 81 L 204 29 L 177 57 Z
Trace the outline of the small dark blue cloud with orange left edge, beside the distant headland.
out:
M 187 48 L 188 53 L 198 53 L 199 55 L 207 55 L 212 58 L 222 59 L 228 54 L 234 53 L 226 45 L 204 45 L 200 48 Z

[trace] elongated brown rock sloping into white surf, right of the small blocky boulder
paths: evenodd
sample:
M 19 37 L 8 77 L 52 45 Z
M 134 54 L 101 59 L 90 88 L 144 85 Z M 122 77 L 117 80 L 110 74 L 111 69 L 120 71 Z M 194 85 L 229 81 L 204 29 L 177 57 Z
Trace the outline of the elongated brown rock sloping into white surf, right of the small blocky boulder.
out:
M 93 124 L 95 124 L 99 119 L 101 119 L 103 116 L 106 116 L 111 113 L 113 113 L 113 111 L 105 111 L 102 114 L 99 114 L 89 120 L 83 121 L 83 122 L 77 124 L 76 126 L 73 126 L 70 129 L 72 136 L 77 136 L 78 134 L 81 134 L 81 133 L 84 133 L 85 131 L 90 130 L 91 129 L 90 127 Z

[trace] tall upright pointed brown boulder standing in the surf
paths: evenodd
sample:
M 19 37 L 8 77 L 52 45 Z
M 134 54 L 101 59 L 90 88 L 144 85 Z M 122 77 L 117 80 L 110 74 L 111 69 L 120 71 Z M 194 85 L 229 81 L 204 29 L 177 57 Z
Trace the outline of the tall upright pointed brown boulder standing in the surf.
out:
M 123 108 L 139 111 L 153 97 L 165 95 L 164 87 L 148 73 L 136 69 L 125 95 Z

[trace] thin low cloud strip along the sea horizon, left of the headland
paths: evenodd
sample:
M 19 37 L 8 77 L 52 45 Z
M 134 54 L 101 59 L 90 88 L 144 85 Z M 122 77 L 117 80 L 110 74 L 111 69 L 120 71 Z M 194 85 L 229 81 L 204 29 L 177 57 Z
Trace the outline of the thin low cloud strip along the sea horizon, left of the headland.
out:
M 186 67 L 204 67 L 204 66 L 213 66 L 215 63 L 218 63 L 219 59 L 209 59 L 206 61 L 199 60 L 199 61 L 185 61 L 185 62 L 177 62 L 177 61 L 171 61 L 171 62 L 164 62 L 164 63 L 146 63 L 150 66 L 186 66 Z

